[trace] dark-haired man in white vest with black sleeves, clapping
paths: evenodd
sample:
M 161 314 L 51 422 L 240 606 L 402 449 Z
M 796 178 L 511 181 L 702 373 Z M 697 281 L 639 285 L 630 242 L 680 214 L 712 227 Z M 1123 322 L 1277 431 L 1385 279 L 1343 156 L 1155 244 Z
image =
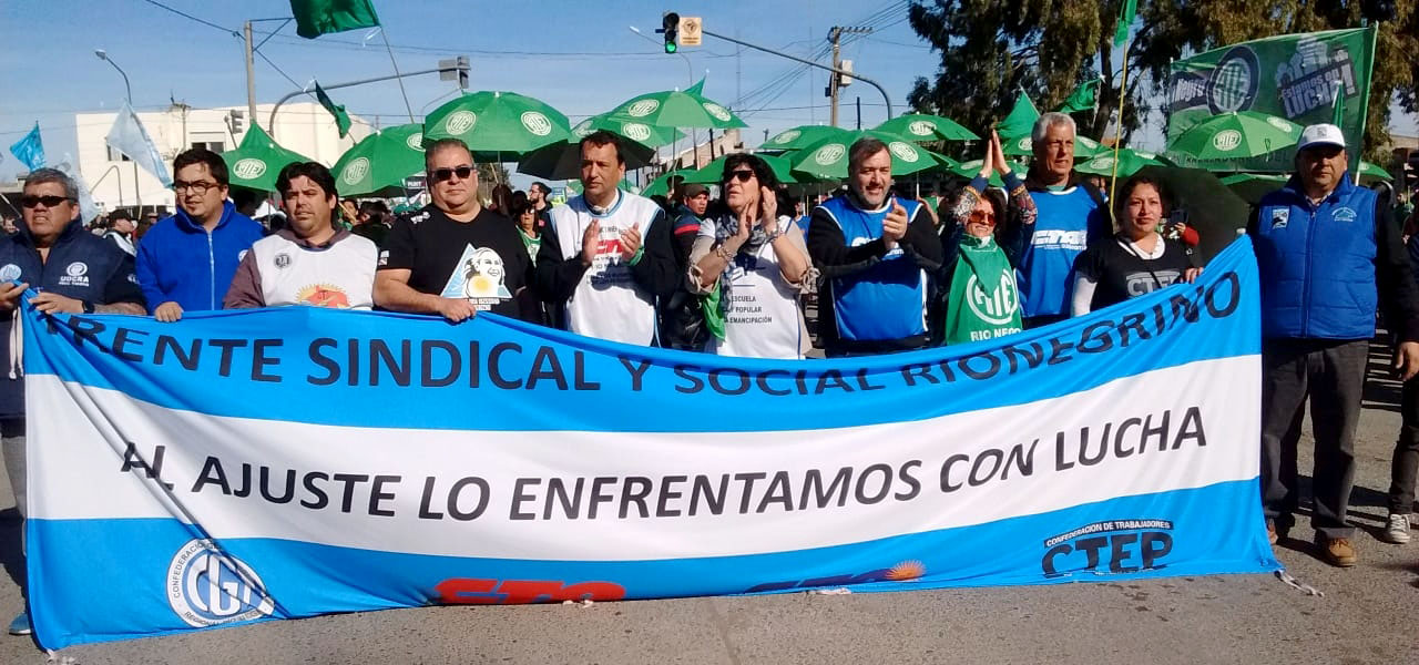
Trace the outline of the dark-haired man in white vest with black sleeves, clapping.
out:
M 626 157 L 620 139 L 593 132 L 582 139 L 582 196 L 552 208 L 536 255 L 543 298 L 566 306 L 578 335 L 650 346 L 656 299 L 684 279 L 675 268 L 666 211 L 622 191 Z

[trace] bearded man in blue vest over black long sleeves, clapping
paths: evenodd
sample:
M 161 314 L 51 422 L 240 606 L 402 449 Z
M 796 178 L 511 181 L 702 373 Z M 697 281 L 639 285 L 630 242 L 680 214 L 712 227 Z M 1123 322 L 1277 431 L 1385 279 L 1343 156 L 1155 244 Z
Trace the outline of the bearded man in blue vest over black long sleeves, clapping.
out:
M 823 201 L 807 251 L 823 272 L 819 336 L 830 357 L 927 345 L 927 275 L 941 267 L 941 238 L 918 201 L 891 191 L 891 150 L 858 139 L 847 152 L 846 196 Z

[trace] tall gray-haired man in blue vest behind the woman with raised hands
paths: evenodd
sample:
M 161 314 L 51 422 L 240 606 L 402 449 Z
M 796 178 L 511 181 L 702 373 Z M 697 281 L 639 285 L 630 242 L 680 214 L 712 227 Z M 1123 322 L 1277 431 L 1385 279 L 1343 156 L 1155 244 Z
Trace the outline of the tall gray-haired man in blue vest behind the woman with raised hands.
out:
M 1033 223 L 1007 220 L 1000 245 L 1019 257 L 1020 316 L 1025 328 L 1067 319 L 1074 288 L 1074 259 L 1095 240 L 1112 235 L 1104 197 L 1074 174 L 1074 119 L 1044 113 L 1034 121 L 1034 160 L 1025 187 L 1034 199 Z

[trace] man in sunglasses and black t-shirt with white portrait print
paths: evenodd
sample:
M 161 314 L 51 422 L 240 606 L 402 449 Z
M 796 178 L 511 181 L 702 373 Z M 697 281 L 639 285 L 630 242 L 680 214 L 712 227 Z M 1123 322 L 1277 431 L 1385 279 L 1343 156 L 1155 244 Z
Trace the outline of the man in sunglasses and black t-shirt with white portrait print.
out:
M 532 284 L 532 258 L 517 227 L 478 204 L 468 146 L 436 140 L 424 152 L 424 170 L 433 204 L 390 228 L 379 252 L 375 305 L 453 322 L 478 312 L 538 320 L 514 298 Z

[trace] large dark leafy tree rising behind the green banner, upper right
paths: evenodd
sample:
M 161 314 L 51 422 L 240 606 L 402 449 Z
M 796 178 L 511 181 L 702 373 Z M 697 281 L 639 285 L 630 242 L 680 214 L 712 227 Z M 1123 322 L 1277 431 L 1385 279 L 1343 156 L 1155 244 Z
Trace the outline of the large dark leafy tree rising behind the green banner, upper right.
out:
M 1388 1 L 1388 0 L 1386 0 Z M 978 133 L 989 129 L 1019 88 L 1042 111 L 1054 109 L 1084 79 L 1101 77 L 1097 113 L 1074 113 L 1080 132 L 1103 136 L 1118 108 L 1121 71 L 1112 31 L 1120 0 L 915 0 L 911 27 L 941 52 L 932 79 L 918 78 L 908 102 L 951 116 Z M 1195 52 L 1274 34 L 1359 27 L 1384 1 L 1141 0 L 1128 43 L 1122 139 L 1166 99 L 1169 64 Z M 1365 152 L 1388 143 L 1389 99 L 1419 111 L 1419 0 L 1393 0 L 1395 18 L 1379 24 Z M 1112 133 L 1112 132 L 1110 132 Z M 1110 136 L 1111 138 L 1111 136 Z

